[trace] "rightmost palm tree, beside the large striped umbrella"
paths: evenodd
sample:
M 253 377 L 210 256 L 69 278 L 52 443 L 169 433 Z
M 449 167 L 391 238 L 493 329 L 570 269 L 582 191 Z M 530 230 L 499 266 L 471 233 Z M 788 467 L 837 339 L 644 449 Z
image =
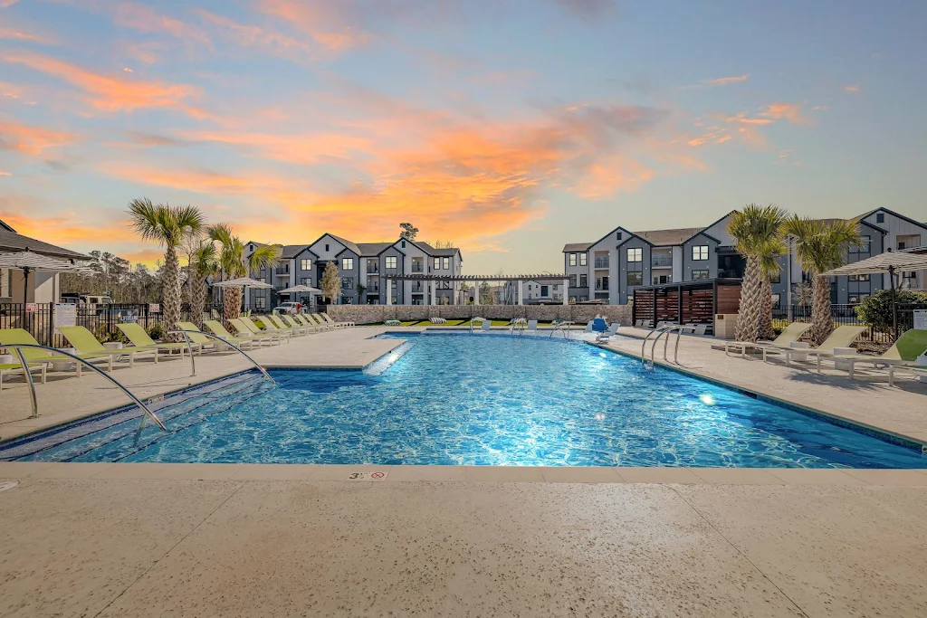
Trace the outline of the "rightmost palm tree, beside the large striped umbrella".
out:
M 831 282 L 823 274 L 844 265 L 851 246 L 863 242 L 855 221 L 820 221 L 795 215 L 785 222 L 784 231 L 794 238 L 795 255 L 802 270 L 812 276 L 811 328 L 808 336 L 820 344 L 833 332 Z

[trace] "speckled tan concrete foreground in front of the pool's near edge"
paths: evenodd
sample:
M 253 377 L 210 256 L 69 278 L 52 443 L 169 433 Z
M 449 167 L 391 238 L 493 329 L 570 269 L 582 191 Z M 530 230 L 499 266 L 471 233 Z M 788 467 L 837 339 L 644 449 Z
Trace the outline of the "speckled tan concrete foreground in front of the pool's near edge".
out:
M 0 615 L 927 615 L 925 509 L 922 487 L 27 478 L 0 492 Z

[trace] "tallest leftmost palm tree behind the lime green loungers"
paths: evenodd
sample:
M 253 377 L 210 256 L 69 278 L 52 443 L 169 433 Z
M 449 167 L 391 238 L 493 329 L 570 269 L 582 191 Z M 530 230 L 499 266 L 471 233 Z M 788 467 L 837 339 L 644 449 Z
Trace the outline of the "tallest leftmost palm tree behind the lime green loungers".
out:
M 180 322 L 180 261 L 177 247 L 184 238 L 198 233 L 206 220 L 199 208 L 192 206 L 157 206 L 147 197 L 129 203 L 132 226 L 143 240 L 153 240 L 164 247 L 164 272 L 161 277 L 162 317 L 167 328 Z

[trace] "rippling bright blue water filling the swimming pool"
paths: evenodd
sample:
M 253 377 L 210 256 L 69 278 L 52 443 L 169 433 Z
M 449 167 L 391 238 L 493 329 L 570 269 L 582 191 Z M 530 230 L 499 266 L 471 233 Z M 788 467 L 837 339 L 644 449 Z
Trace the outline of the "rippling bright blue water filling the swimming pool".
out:
M 891 444 L 577 341 L 408 336 L 365 372 L 277 371 L 137 410 L 0 458 L 73 461 L 915 468 Z M 395 360 L 395 362 L 392 362 Z M 95 430 L 96 431 L 91 431 Z M 88 433 L 89 432 L 89 433 Z M 35 452 L 37 448 L 43 448 Z

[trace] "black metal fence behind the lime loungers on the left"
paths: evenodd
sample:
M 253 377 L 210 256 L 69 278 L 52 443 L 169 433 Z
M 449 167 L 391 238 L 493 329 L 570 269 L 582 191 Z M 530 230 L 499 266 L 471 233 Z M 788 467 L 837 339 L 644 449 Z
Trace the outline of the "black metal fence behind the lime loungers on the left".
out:
M 60 305 L 57 305 L 61 308 Z M 69 309 L 58 309 L 57 318 L 60 320 L 64 311 L 73 308 L 75 312 L 75 325 L 83 326 L 97 338 L 116 335 L 120 330 L 117 324 L 137 322 L 146 330 L 155 324 L 162 324 L 163 314 L 160 307 L 148 304 L 112 304 L 112 305 L 70 305 Z M 158 309 L 158 310 L 152 310 Z M 56 305 L 52 303 L 3 303 L 0 304 L 0 329 L 22 328 L 32 334 L 35 340 L 44 346 L 70 347 L 67 340 L 55 330 Z M 222 316 L 222 305 L 207 305 L 206 313 L 213 311 Z M 181 307 L 181 320 L 184 322 L 199 322 L 193 319 L 190 305 L 184 303 Z

